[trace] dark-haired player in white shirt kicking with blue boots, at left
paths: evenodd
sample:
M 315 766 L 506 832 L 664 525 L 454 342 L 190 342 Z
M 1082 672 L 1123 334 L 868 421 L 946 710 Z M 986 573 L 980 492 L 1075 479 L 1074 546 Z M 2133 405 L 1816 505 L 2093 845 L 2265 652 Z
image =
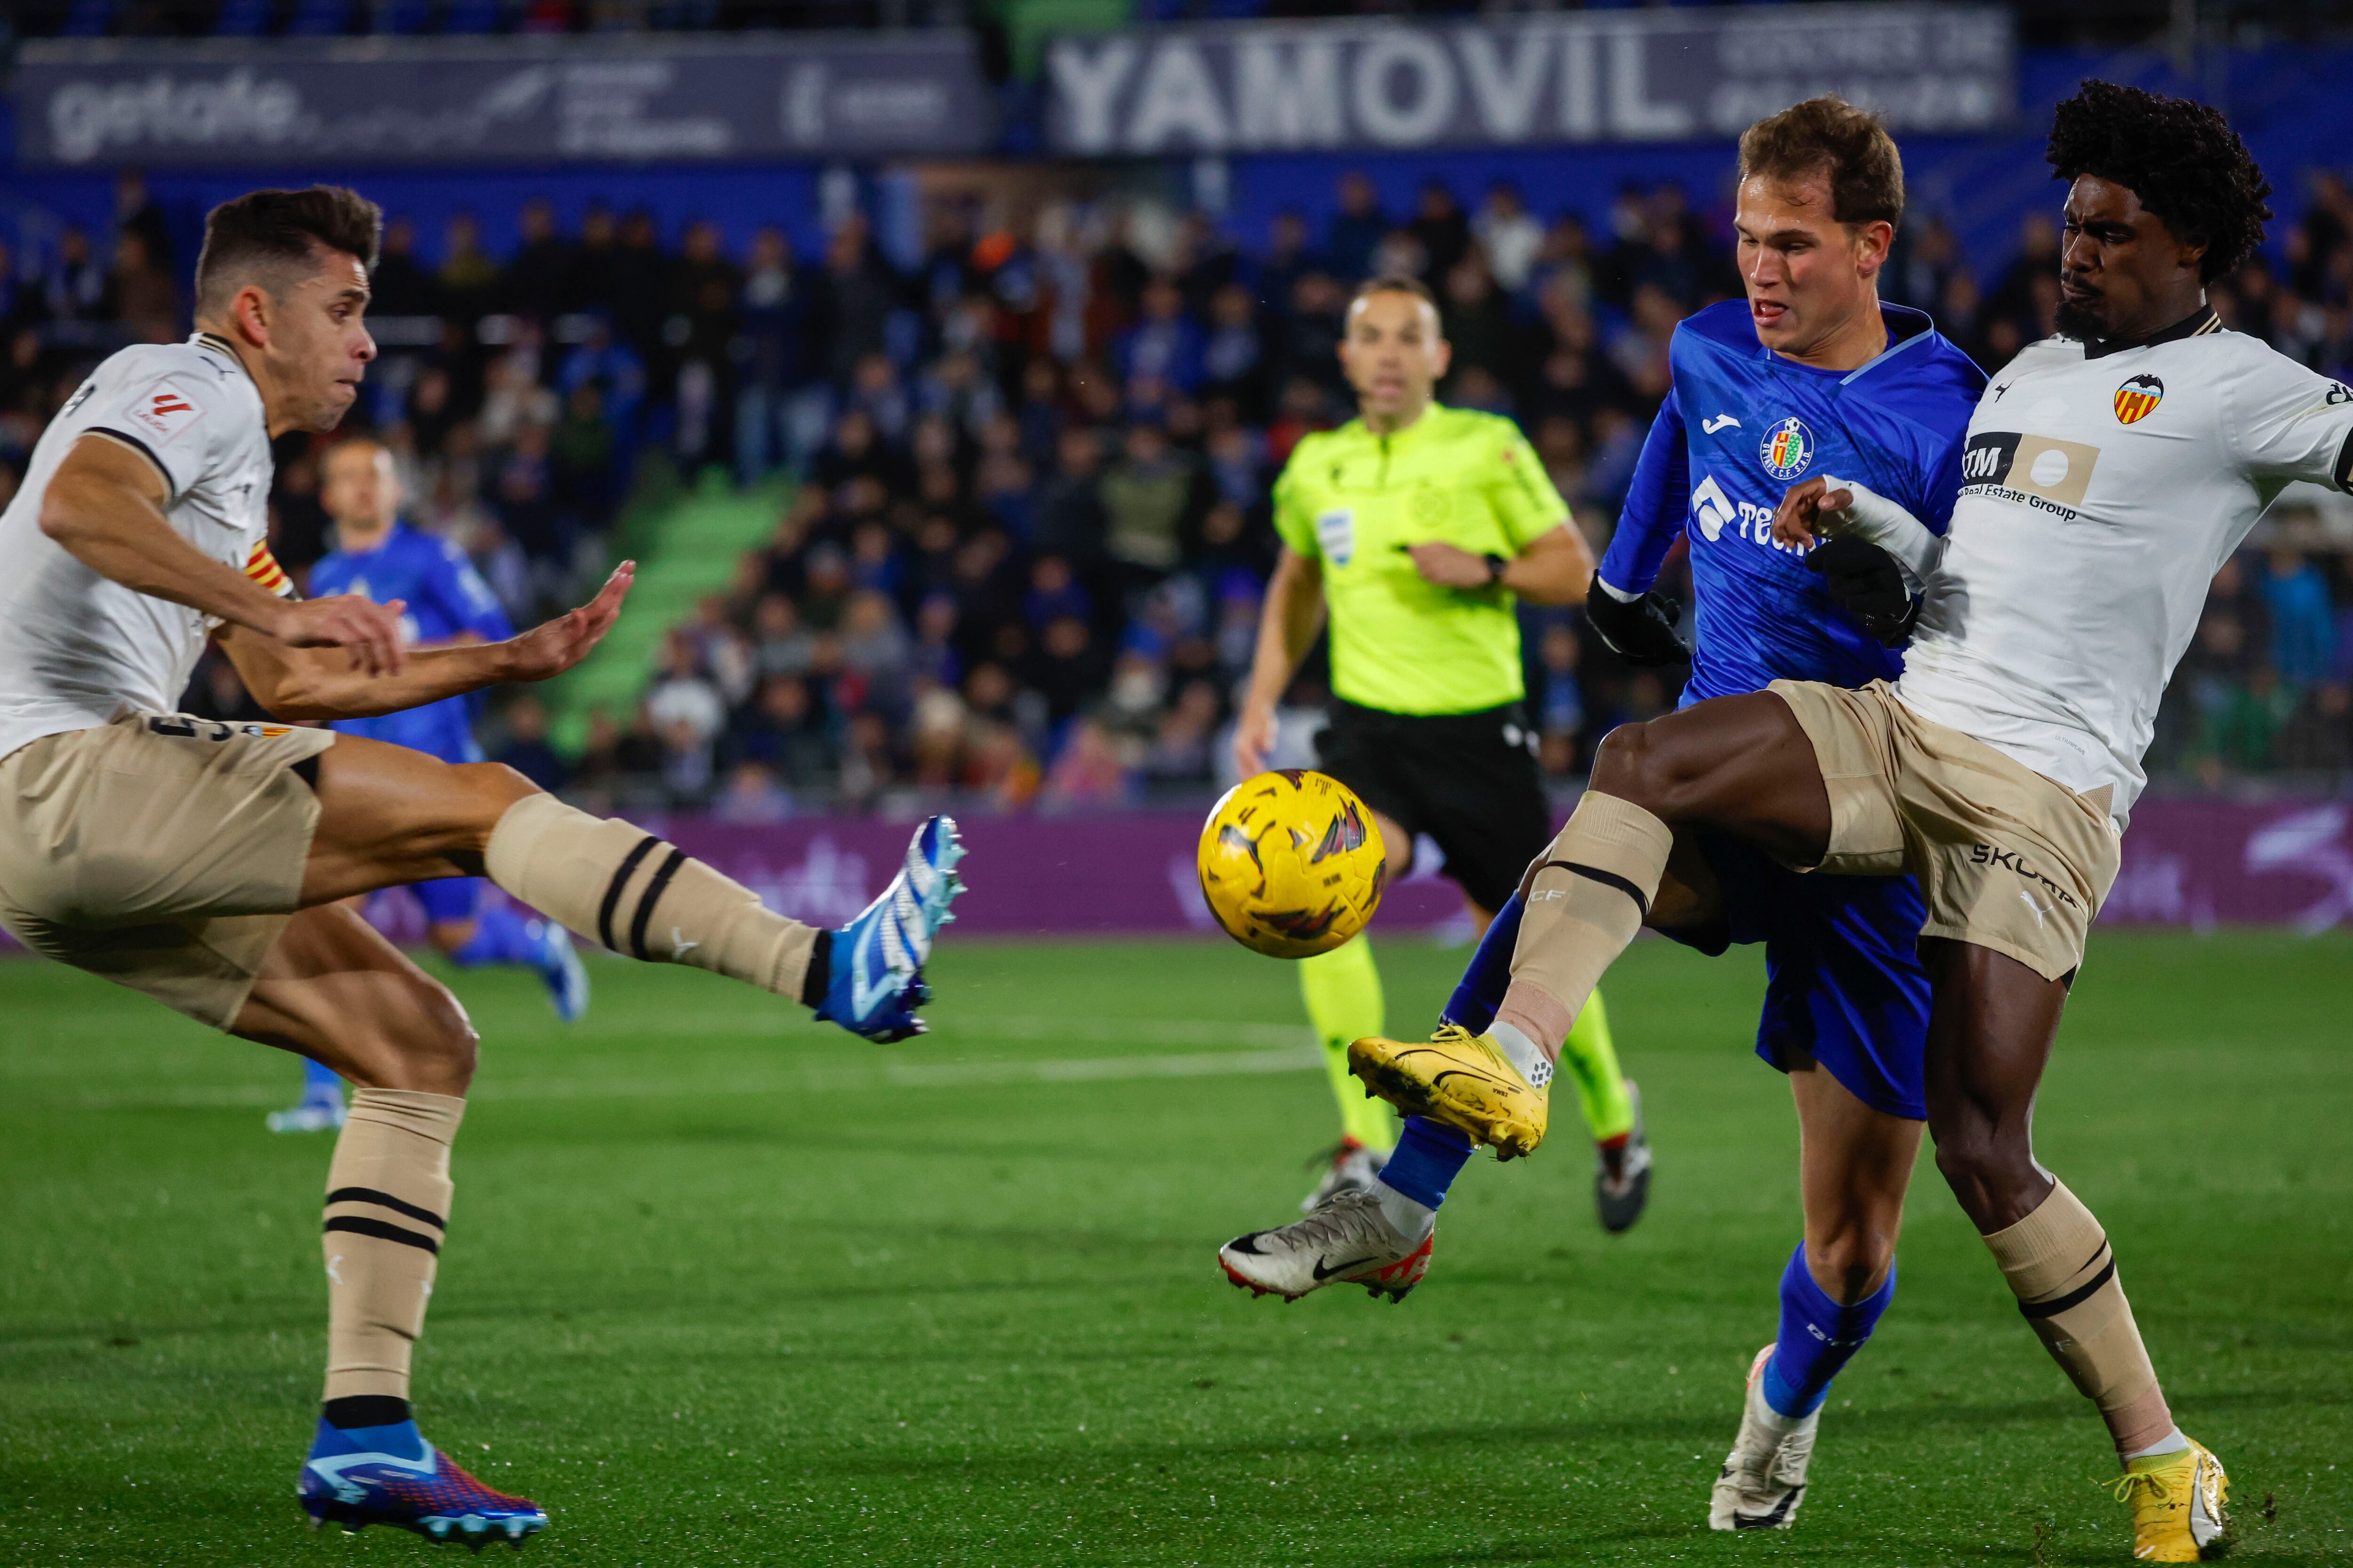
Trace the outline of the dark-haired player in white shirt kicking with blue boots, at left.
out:
M 814 931 L 511 769 L 172 712 L 207 635 L 268 712 L 339 719 L 546 679 L 621 614 L 628 564 L 520 637 L 424 651 L 402 649 L 398 599 L 289 595 L 264 543 L 268 442 L 332 430 L 358 395 L 379 216 L 329 186 L 212 209 L 195 336 L 99 364 L 33 447 L 0 512 L 0 924 L 358 1086 L 327 1168 L 327 1396 L 304 1509 L 520 1544 L 546 1514 L 452 1465 L 407 1401 L 475 1037 L 341 900 L 487 875 L 607 947 L 899 1039 L 920 1027 L 960 849 L 932 818 L 871 910 Z

